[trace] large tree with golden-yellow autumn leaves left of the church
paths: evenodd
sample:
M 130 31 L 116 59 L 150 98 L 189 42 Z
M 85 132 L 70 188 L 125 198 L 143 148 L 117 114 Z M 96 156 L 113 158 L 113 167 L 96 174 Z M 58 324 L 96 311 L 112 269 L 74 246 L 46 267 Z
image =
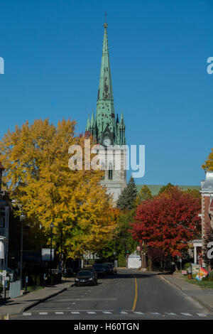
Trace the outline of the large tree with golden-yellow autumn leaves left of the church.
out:
M 4 182 L 26 212 L 32 228 L 42 226 L 53 245 L 62 234 L 66 257 L 82 257 L 97 252 L 116 229 L 111 214 L 111 198 L 99 184 L 102 171 L 70 170 L 70 146 L 80 145 L 84 156 L 84 137 L 75 134 L 75 121 L 50 124 L 48 119 L 16 126 L 0 141 L 0 158 L 6 173 Z

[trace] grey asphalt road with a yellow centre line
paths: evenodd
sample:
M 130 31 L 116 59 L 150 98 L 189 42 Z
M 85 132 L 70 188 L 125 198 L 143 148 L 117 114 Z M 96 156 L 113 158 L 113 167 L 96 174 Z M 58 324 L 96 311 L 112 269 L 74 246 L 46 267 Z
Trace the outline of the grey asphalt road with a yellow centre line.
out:
M 16 320 L 213 319 L 200 304 L 157 274 L 120 269 L 98 286 L 72 286 Z

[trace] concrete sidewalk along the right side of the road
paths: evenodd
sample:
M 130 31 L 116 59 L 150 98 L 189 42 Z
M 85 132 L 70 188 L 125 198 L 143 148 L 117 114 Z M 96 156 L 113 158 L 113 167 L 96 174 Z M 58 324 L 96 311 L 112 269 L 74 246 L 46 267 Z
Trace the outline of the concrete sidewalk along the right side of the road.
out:
M 169 284 L 172 284 L 182 292 L 186 293 L 195 301 L 200 303 L 210 313 L 213 313 L 213 289 L 202 289 L 200 286 L 190 284 L 181 277 L 170 274 L 160 274 L 162 279 L 165 279 Z

